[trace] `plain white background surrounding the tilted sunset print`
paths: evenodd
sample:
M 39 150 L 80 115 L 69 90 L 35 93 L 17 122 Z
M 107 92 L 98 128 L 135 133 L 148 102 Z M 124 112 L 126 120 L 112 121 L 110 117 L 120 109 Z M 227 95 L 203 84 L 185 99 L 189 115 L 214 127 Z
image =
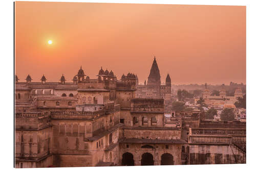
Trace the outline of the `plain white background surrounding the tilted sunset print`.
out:
M 47 0 L 45 0 L 47 1 Z M 47 1 L 52 2 L 52 1 Z M 246 6 L 246 85 L 247 85 L 247 163 L 246 164 L 222 164 L 222 165 L 176 165 L 176 166 L 134 166 L 134 167 L 86 167 L 87 169 L 241 169 L 255 167 L 255 128 L 253 126 L 255 117 L 254 98 L 255 98 L 255 16 L 256 8 L 254 1 L 163 1 L 163 0 L 151 0 L 151 1 L 58 1 L 54 2 L 94 2 L 94 3 L 141 3 L 141 4 L 181 4 L 181 5 L 238 5 Z M 13 167 L 13 2 L 1 1 L 1 168 L 9 169 Z M 45 168 L 37 168 L 45 169 Z M 54 168 L 56 169 L 56 168 Z M 59 168 L 57 168 L 59 169 Z M 71 168 L 65 168 L 71 169 Z M 73 168 L 72 168 L 73 169 Z M 76 168 L 84 169 L 84 167 Z

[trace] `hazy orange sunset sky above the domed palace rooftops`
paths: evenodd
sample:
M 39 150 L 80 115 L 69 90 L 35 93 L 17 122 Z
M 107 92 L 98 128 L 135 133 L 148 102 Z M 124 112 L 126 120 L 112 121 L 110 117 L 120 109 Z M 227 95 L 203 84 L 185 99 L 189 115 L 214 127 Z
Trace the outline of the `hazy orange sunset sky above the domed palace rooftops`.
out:
M 51 39 L 53 44 L 47 41 Z M 161 81 L 246 83 L 246 7 L 16 2 L 15 71 L 68 81 L 82 65 L 147 80 L 156 56 Z

